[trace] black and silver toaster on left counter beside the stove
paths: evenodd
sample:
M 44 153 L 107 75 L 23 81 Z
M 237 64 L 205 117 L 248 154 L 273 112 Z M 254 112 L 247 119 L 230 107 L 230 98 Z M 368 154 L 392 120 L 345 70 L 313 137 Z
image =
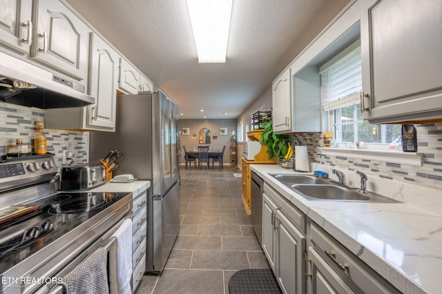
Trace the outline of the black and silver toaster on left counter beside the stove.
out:
M 82 190 L 97 187 L 106 182 L 106 171 L 104 165 L 80 164 L 61 167 L 60 189 L 61 190 Z

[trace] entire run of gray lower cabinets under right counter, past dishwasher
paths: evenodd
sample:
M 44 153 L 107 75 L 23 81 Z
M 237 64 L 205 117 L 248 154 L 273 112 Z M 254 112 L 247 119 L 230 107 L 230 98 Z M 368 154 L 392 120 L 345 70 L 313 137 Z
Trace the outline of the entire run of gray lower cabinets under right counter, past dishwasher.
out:
M 267 182 L 261 245 L 282 293 L 401 293 Z

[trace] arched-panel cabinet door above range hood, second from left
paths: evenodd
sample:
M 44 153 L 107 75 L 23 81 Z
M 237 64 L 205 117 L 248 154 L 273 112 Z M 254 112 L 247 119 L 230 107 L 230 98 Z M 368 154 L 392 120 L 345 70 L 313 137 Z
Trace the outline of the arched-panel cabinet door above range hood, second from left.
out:
M 91 32 L 88 25 L 61 1 L 39 0 L 36 5 L 32 58 L 77 81 L 85 81 Z

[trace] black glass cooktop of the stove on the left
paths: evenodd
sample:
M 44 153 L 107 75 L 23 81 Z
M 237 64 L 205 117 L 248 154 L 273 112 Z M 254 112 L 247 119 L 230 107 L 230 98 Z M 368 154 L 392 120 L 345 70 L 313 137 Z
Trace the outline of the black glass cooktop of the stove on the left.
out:
M 28 203 L 39 205 L 39 209 L 31 216 L 23 216 L 0 227 L 0 273 L 26 260 L 97 214 L 108 213 L 104 211 L 127 195 L 109 192 L 57 193 Z

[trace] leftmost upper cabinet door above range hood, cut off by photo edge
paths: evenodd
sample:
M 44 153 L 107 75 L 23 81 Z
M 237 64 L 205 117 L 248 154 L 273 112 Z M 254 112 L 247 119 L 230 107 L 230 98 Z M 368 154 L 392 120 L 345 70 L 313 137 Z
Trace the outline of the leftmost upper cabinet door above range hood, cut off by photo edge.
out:
M 29 54 L 32 43 L 32 0 L 0 1 L 0 44 Z

